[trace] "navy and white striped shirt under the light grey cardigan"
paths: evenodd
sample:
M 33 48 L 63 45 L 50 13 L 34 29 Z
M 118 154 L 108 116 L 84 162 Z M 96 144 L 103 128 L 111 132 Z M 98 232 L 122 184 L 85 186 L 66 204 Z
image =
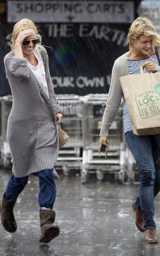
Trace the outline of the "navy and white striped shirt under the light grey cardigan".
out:
M 129 74 L 140 74 L 140 67 L 142 66 L 142 64 L 146 61 L 152 61 L 154 62 L 156 65 L 158 64 L 158 59 L 156 54 L 154 53 L 153 55 L 151 55 L 150 57 L 147 57 L 145 59 L 140 59 L 138 61 L 136 60 L 131 60 L 131 59 L 127 59 L 128 62 L 128 75 Z M 144 69 L 144 73 L 148 73 L 148 71 L 146 69 Z M 126 105 L 126 102 L 124 103 L 124 107 L 123 107 L 123 125 L 124 125 L 124 133 L 126 133 L 127 131 L 131 131 L 133 130 L 132 128 L 132 124 L 131 124 L 131 118 L 130 118 L 130 113 L 128 111 L 128 107 Z

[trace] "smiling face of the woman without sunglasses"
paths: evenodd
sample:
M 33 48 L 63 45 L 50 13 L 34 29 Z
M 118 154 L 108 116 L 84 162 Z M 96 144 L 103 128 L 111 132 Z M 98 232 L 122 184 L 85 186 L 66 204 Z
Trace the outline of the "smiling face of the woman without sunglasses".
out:
M 153 49 L 152 40 L 152 35 L 141 35 L 137 40 L 134 40 L 133 49 L 148 56 Z

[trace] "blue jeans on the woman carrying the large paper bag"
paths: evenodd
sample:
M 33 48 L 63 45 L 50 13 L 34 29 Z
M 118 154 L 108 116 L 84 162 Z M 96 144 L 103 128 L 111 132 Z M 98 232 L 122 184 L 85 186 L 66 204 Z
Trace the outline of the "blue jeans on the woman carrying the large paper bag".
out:
M 160 134 L 137 136 L 133 131 L 125 133 L 126 142 L 130 148 L 139 171 L 139 196 L 135 201 L 141 211 L 144 228 L 156 229 L 154 222 L 154 197 L 160 191 Z

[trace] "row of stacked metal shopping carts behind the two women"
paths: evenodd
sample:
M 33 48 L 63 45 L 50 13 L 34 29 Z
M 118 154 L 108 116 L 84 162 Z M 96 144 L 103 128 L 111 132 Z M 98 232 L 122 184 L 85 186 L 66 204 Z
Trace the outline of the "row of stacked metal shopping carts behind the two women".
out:
M 59 150 L 55 168 L 62 170 L 64 175 L 69 175 L 71 170 L 78 170 L 81 173 L 82 183 L 89 180 L 91 173 L 95 173 L 98 180 L 103 180 L 107 174 L 114 176 L 114 179 L 121 183 L 126 179 L 133 182 L 137 171 L 122 131 L 123 103 L 109 129 L 107 159 L 104 157 L 105 153 L 99 157 L 99 133 L 107 97 L 107 94 L 56 96 L 61 108 L 64 109 L 61 127 L 69 134 L 69 139 Z M 11 168 L 10 149 L 6 141 L 7 120 L 11 106 L 12 96 L 0 98 L 0 165 L 6 169 Z

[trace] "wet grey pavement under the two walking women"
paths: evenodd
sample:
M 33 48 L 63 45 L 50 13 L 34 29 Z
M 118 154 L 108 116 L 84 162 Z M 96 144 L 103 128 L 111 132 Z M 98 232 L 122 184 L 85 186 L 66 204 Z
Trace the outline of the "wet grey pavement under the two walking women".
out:
M 0 170 L 0 198 L 11 171 Z M 18 229 L 8 233 L 0 223 L 0 255 L 3 256 L 159 256 L 160 244 L 144 242 L 144 234 L 136 229 L 131 203 L 138 185 L 119 185 L 92 178 L 80 183 L 72 173 L 56 180 L 54 204 L 56 224 L 61 232 L 48 244 L 38 242 L 38 178 L 19 195 L 14 208 Z M 155 199 L 155 221 L 160 240 L 160 195 Z

